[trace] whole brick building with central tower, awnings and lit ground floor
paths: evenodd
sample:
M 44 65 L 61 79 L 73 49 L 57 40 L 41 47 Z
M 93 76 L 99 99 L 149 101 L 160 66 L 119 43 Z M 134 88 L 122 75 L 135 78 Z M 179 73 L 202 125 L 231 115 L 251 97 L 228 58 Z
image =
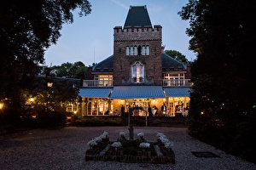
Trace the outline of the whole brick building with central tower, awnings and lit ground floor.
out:
M 137 116 L 148 114 L 148 106 L 162 116 L 189 108 L 189 66 L 164 53 L 162 27 L 152 26 L 146 6 L 130 7 L 125 25 L 113 28 L 113 55 L 89 70 L 80 116 L 120 114 L 122 105 Z

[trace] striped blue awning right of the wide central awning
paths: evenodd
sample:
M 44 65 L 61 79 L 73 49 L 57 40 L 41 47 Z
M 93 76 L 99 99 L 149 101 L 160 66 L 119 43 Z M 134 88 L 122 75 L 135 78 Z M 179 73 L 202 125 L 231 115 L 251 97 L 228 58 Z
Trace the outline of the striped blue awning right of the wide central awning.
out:
M 163 88 L 166 92 L 166 97 L 189 97 L 189 88 Z

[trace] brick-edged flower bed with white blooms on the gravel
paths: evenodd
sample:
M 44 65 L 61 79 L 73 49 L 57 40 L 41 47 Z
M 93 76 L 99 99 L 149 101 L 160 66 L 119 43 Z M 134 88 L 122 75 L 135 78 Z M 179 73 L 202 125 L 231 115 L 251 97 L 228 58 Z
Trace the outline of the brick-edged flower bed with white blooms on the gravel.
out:
M 175 163 L 173 144 L 162 133 L 157 134 L 156 142 L 146 141 L 143 133 L 138 133 L 138 139 L 133 140 L 125 139 L 125 133 L 119 133 L 117 141 L 109 141 L 106 132 L 102 135 L 88 142 L 90 149 L 85 151 L 86 161 Z

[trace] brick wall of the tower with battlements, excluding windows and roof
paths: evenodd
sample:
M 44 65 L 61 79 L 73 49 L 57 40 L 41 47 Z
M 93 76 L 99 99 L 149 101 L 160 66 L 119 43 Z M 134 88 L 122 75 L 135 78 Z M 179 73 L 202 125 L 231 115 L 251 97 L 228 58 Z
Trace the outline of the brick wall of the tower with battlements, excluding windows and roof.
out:
M 122 80 L 131 78 L 131 65 L 139 61 L 145 67 L 145 78 L 154 85 L 162 83 L 161 42 L 162 27 L 135 27 L 134 29 L 118 26 L 114 30 L 113 42 L 113 80 L 114 85 L 122 85 Z M 126 56 L 126 46 L 149 46 L 149 55 Z

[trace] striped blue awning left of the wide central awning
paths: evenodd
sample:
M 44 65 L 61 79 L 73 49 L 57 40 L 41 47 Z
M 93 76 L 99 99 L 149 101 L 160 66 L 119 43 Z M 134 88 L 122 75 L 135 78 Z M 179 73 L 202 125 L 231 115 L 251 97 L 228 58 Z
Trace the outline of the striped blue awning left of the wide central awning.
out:
M 113 88 L 80 88 L 79 96 L 86 98 L 108 98 Z

